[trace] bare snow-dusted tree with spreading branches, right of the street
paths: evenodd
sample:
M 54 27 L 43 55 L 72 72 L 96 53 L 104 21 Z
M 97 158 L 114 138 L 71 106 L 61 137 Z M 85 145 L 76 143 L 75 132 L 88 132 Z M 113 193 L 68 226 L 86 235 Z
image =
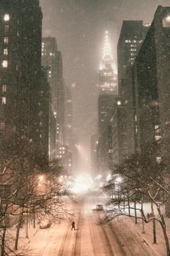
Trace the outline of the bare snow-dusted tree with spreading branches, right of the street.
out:
M 118 175 L 122 177 L 122 181 L 116 183 Z M 169 256 L 169 240 L 161 210 L 161 206 L 165 205 L 170 196 L 169 158 L 164 156 L 160 162 L 156 162 L 156 154 L 152 149 L 146 150 L 143 154 L 134 154 L 124 160 L 121 165 L 114 167 L 113 179 L 104 189 L 110 191 L 111 188 L 113 195 L 106 203 L 107 211 L 100 223 L 108 223 L 120 215 L 133 216 L 136 223 L 137 218 L 141 218 L 145 223 L 153 221 L 154 243 L 156 243 L 155 221 L 158 221 L 163 229 Z M 116 195 L 119 196 L 116 197 Z M 152 213 L 148 216 L 143 212 L 143 199 L 151 201 Z M 137 202 L 140 205 L 138 208 Z M 153 205 L 156 205 L 159 217 L 154 215 Z M 137 216 L 137 212 L 140 212 L 140 215 Z

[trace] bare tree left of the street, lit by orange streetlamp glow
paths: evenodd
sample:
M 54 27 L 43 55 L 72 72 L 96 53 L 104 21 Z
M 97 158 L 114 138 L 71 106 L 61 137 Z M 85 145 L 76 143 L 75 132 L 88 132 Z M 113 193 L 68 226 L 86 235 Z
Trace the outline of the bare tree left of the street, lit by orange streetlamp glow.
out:
M 18 249 L 23 218 L 27 221 L 28 237 L 29 218 L 33 217 L 34 227 L 36 218 L 59 223 L 71 214 L 65 208 L 63 198 L 73 199 L 61 162 L 52 160 L 46 165 L 44 156 L 39 155 L 33 142 L 27 138 L 14 138 L 10 142 L 10 149 L 8 144 L 3 151 L 0 170 L 0 225 L 3 227 L 0 233 L 1 256 Z M 42 162 L 45 163 L 43 168 Z M 18 222 L 15 243 L 11 242 L 14 238 L 9 240 L 10 218 Z

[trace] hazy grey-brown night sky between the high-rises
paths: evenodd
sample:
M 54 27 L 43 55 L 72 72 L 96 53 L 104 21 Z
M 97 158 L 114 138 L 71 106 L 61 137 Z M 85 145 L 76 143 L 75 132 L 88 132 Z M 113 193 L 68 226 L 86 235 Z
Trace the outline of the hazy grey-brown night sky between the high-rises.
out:
M 40 0 L 43 36 L 56 38 L 63 57 L 63 77 L 72 87 L 73 126 L 78 128 L 84 157 L 89 158 L 90 136 L 97 130 L 97 83 L 105 29 L 116 60 L 122 20 L 151 23 L 158 5 L 170 0 Z

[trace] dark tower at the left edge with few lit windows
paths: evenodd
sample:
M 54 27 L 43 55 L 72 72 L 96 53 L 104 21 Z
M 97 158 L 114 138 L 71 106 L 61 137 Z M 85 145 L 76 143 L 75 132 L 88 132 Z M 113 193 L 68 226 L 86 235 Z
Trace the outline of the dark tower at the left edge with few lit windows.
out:
M 4 139 L 18 132 L 41 145 L 41 152 L 41 132 L 46 129 L 41 112 L 39 1 L 1 0 L 0 16 L 0 136 Z

